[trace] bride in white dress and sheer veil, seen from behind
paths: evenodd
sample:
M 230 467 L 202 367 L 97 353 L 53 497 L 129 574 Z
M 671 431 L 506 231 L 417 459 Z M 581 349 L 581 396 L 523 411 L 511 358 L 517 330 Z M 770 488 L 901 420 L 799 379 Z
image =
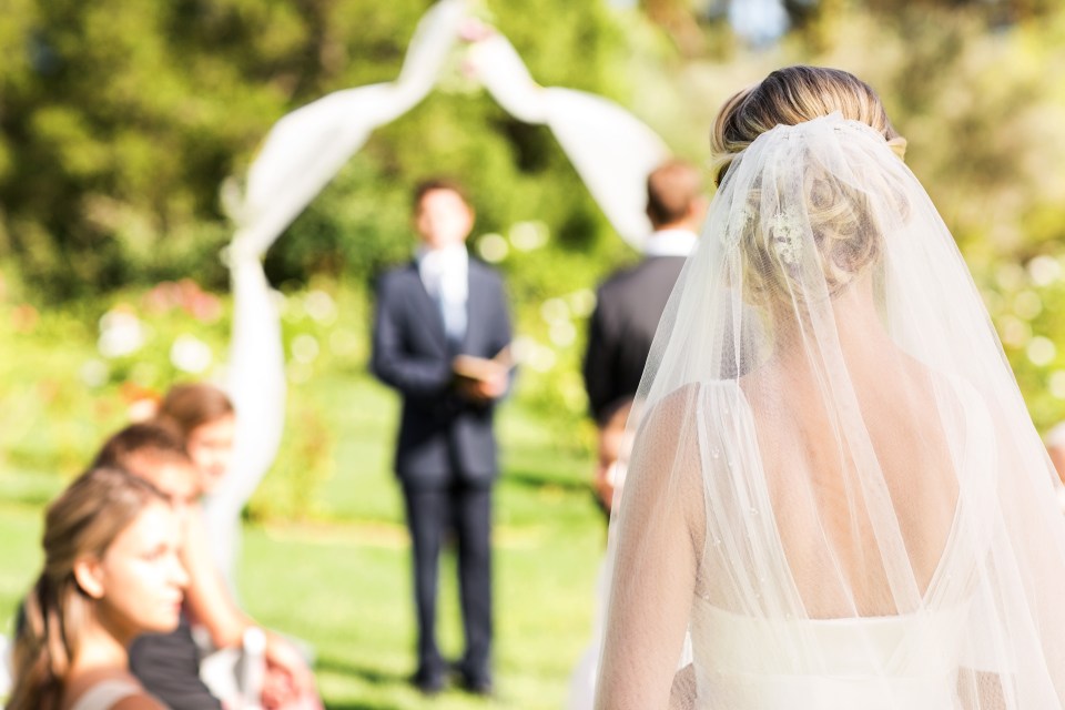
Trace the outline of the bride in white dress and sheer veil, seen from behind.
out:
M 904 145 L 831 69 L 718 116 L 629 424 L 601 710 L 1065 707 L 1049 463 Z

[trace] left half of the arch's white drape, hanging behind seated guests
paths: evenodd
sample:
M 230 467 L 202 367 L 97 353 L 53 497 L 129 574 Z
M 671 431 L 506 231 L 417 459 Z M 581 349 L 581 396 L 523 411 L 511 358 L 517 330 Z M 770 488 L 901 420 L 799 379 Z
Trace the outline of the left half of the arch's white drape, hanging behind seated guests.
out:
M 332 93 L 284 116 L 266 136 L 233 205 L 229 260 L 233 336 L 227 385 L 236 409 L 233 470 L 204 506 L 217 559 L 232 580 L 240 513 L 273 463 L 285 418 L 281 324 L 262 257 L 369 133 L 432 89 L 464 17 L 459 2 L 436 4 L 418 26 L 399 79 Z

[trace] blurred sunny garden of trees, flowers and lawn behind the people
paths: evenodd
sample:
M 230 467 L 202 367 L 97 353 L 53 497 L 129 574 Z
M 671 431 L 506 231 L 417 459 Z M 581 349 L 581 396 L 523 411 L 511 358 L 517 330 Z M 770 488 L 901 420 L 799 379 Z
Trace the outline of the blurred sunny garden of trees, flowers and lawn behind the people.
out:
M 394 81 L 426 0 L 4 0 L 0 12 L 0 622 L 43 505 L 131 407 L 217 378 L 232 302 L 222 185 L 271 125 Z M 1065 417 L 1065 4 L 1056 0 L 485 0 L 542 85 L 600 94 L 706 164 L 721 102 L 792 63 L 856 73 L 957 240 L 1041 432 Z M 525 364 L 501 412 L 498 697 L 559 708 L 590 632 L 605 525 L 579 375 L 596 284 L 638 254 L 550 131 L 456 45 L 266 256 L 287 426 L 246 509 L 243 602 L 317 655 L 331 708 L 416 708 L 393 394 L 366 372 L 374 277 L 414 247 L 409 192 L 448 174 L 505 274 Z M 625 146 L 618 146 L 625 150 Z M 710 189 L 708 180 L 708 190 Z M 454 575 L 442 575 L 449 580 Z M 446 649 L 460 647 L 443 590 Z

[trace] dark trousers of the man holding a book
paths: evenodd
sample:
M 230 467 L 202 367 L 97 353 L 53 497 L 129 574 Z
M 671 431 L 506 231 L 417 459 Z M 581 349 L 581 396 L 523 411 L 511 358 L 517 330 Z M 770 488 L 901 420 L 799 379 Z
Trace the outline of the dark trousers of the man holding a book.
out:
M 443 674 L 436 645 L 436 597 L 440 547 L 447 532 L 458 551 L 459 597 L 466 653 L 459 670 L 470 681 L 491 678 L 491 488 L 455 483 L 446 488 L 404 486 L 407 527 L 414 552 L 414 591 L 418 615 L 418 673 Z

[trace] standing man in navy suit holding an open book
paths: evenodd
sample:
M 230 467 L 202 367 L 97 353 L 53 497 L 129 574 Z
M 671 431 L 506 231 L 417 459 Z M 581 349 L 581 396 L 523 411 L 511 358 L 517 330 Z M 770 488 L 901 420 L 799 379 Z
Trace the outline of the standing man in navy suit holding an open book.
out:
M 493 415 L 509 385 L 510 317 L 499 276 L 469 258 L 474 212 L 445 181 L 419 185 L 414 261 L 381 280 L 371 368 L 403 397 L 396 474 L 414 551 L 418 618 L 415 684 L 439 691 L 447 665 L 436 645 L 437 568 L 445 532 L 458 546 L 473 692 L 491 692 L 491 486 L 498 475 Z

